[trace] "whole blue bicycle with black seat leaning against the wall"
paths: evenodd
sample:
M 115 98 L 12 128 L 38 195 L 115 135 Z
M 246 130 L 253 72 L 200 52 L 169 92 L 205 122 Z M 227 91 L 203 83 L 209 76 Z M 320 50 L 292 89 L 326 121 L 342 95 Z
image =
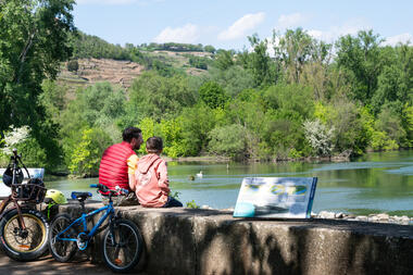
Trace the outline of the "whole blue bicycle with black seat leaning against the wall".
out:
M 143 249 L 143 241 L 138 227 L 130 221 L 121 218 L 115 214 L 112 196 L 127 193 L 118 188 L 114 191 L 104 185 L 90 185 L 101 192 L 109 193 L 109 204 L 86 213 L 85 200 L 91 197 L 90 192 L 72 192 L 72 198 L 80 202 L 82 215 L 73 220 L 67 214 L 58 214 L 49 234 L 49 247 L 53 258 L 59 262 L 67 262 L 76 250 L 85 250 L 97 233 L 103 234 L 102 252 L 108 266 L 114 272 L 127 272 L 139 262 Z M 98 223 L 88 230 L 87 221 L 93 215 L 104 211 Z M 108 223 L 102 226 L 103 222 Z

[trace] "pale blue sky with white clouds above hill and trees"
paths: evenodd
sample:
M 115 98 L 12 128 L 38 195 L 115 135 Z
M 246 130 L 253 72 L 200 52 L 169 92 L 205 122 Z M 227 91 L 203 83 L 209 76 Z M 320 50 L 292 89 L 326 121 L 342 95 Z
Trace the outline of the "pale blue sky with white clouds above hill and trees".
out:
M 273 29 L 299 26 L 329 42 L 371 28 L 386 43 L 413 42 L 410 0 L 77 0 L 73 14 L 82 32 L 122 46 L 173 41 L 241 50 L 254 33 L 268 38 Z

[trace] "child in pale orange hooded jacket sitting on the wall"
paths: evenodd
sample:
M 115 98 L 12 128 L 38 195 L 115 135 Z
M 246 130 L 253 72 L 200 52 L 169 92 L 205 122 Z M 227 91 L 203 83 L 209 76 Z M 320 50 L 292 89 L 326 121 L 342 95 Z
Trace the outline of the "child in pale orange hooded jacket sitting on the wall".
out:
M 147 140 L 147 155 L 139 159 L 135 171 L 135 190 L 140 205 L 145 208 L 180 208 L 183 203 L 170 197 L 166 162 L 160 157 L 162 138 Z

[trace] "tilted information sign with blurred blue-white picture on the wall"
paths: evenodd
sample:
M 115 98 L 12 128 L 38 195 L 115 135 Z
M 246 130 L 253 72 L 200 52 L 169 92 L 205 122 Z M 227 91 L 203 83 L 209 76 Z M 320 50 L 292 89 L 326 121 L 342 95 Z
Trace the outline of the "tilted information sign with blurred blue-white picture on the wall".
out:
M 316 177 L 246 177 L 234 217 L 310 217 L 316 183 Z

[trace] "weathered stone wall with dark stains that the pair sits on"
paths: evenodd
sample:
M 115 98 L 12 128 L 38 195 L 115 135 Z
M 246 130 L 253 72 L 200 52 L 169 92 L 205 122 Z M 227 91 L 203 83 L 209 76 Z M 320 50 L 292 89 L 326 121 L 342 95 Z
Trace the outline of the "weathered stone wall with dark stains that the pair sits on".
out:
M 68 204 L 59 212 L 78 209 Z M 149 274 L 413 274 L 409 225 L 241 220 L 192 209 L 118 211 L 140 228 L 146 252 L 137 271 Z M 99 241 L 91 254 L 102 260 Z

